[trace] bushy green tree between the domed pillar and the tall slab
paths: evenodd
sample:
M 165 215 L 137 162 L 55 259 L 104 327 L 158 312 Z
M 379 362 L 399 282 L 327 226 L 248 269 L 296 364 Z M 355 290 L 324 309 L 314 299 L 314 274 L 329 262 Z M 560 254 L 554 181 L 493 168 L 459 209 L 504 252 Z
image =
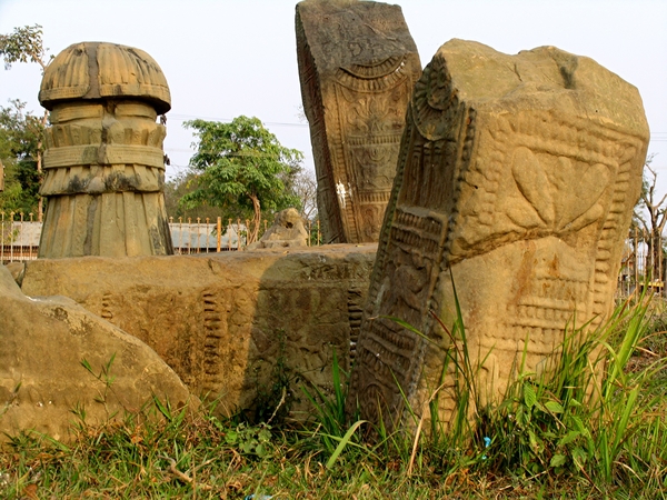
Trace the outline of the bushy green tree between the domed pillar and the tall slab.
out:
M 250 216 L 249 243 L 257 240 L 262 210 L 300 209 L 293 183 L 303 154 L 282 147 L 259 119 L 240 116 L 230 123 L 192 120 L 185 127 L 193 130 L 198 141 L 190 159 L 190 186 L 195 189 L 181 198 L 183 207 L 219 207 L 225 218 L 236 218 L 239 212 Z

